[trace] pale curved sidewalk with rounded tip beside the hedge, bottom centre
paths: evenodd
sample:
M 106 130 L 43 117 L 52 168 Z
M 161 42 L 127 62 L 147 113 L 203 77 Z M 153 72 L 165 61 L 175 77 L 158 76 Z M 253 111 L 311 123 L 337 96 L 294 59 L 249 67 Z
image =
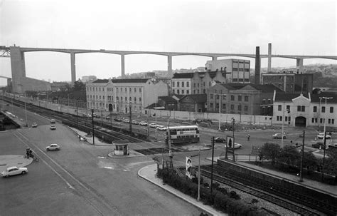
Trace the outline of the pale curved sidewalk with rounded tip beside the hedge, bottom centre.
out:
M 171 192 L 171 194 L 176 195 L 176 197 L 181 198 L 182 200 L 185 200 L 186 202 L 191 203 L 192 205 L 195 205 L 196 207 L 200 208 L 200 210 L 203 210 L 207 212 L 210 215 L 227 215 L 223 212 L 219 212 L 213 207 L 210 207 L 209 205 L 203 205 L 203 202 L 198 202 L 193 197 L 190 197 L 183 192 L 180 192 L 179 190 L 174 189 L 173 187 L 169 185 L 164 185 L 163 181 L 160 178 L 156 177 L 157 172 L 157 165 L 148 165 L 144 168 L 141 168 L 138 171 L 138 175 L 141 178 L 144 178 L 145 180 L 148 180 L 149 182 L 154 183 L 155 185 L 158 185 L 159 187 L 163 188 L 164 190 L 167 190 L 168 192 Z

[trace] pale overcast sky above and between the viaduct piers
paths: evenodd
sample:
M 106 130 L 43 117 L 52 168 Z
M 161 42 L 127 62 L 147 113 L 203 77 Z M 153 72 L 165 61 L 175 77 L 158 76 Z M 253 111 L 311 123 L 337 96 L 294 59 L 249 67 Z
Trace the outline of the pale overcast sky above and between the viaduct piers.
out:
M 260 46 L 267 54 L 272 43 L 273 54 L 337 56 L 336 7 L 334 0 L 0 0 L 0 46 L 250 54 Z M 243 59 L 255 68 L 253 58 Z M 68 53 L 31 52 L 25 60 L 28 77 L 71 79 Z M 172 68 L 197 68 L 208 60 L 176 56 Z M 304 60 L 312 63 L 337 61 Z M 296 61 L 272 58 L 272 67 L 288 66 Z M 125 56 L 125 73 L 154 70 L 167 70 L 166 56 Z M 88 75 L 120 76 L 120 56 L 77 54 L 76 77 Z M 0 57 L 0 76 L 11 77 L 10 58 Z

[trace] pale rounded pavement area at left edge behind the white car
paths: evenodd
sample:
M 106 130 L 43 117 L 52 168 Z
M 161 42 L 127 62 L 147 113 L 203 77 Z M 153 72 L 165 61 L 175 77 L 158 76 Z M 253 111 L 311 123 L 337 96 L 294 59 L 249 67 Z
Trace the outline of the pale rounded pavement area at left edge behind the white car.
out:
M 32 161 L 32 158 L 23 158 L 23 155 L 0 155 L 0 173 L 13 166 L 18 168 L 26 167 Z

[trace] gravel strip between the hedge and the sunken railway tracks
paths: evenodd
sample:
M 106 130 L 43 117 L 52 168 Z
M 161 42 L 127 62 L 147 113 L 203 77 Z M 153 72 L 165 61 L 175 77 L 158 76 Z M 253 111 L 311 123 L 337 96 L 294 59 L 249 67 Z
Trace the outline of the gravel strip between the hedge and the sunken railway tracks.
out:
M 208 184 L 210 185 L 210 179 L 209 178 L 205 178 L 203 177 L 204 182 L 208 182 Z M 243 202 L 252 205 L 253 207 L 263 207 L 267 210 L 270 210 L 272 212 L 275 212 L 279 215 L 287 215 L 287 216 L 298 216 L 299 214 L 295 213 L 295 212 L 291 212 L 290 210 L 285 209 L 284 207 L 280 207 L 279 205 L 275 205 L 272 202 L 268 202 L 266 200 L 263 200 L 259 197 L 255 197 L 253 195 L 247 194 L 246 192 L 242 192 L 241 190 L 237 190 L 234 187 L 230 187 L 228 185 L 222 184 L 220 183 L 220 187 L 224 187 L 228 190 L 228 192 L 230 191 L 235 191 L 238 195 L 240 195 L 241 199 Z M 252 199 L 256 199 L 258 200 L 258 202 L 252 203 Z

